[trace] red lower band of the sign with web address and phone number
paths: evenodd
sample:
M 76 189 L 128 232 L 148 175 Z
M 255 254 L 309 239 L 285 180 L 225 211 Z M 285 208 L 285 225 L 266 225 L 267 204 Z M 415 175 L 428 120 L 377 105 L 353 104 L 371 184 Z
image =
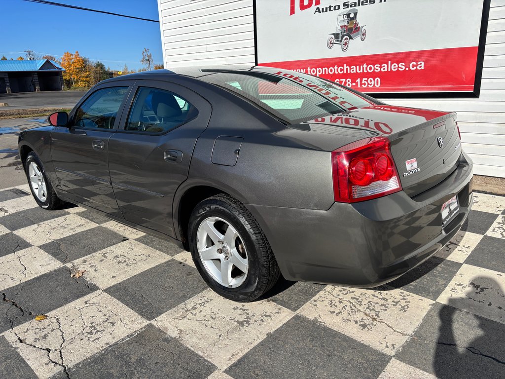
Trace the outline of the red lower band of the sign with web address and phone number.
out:
M 260 63 L 363 92 L 473 91 L 478 47 Z

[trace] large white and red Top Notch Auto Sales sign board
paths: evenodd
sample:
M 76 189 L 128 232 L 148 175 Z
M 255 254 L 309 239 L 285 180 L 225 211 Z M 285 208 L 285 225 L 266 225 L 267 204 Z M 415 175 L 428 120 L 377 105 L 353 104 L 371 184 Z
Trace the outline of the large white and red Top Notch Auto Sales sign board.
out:
M 368 93 L 478 96 L 489 0 L 256 0 L 257 64 Z

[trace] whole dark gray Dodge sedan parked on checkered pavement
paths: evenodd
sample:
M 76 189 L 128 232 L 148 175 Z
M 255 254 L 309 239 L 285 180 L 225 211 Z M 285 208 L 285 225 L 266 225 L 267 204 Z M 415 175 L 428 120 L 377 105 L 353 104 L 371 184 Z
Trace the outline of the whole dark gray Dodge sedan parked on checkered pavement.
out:
M 455 113 L 286 70 L 120 76 L 49 123 L 19 136 L 42 208 L 79 204 L 174 242 L 236 301 L 279 275 L 393 280 L 447 244 L 472 205 Z

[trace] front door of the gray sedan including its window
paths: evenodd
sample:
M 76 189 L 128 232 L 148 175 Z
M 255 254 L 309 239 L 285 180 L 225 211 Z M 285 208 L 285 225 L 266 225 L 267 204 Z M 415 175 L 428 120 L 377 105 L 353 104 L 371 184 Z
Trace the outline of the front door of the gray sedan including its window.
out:
M 57 127 L 51 133 L 60 188 L 69 199 L 120 218 L 107 154 L 130 89 L 128 84 L 118 83 L 98 87 L 70 115 L 68 127 Z

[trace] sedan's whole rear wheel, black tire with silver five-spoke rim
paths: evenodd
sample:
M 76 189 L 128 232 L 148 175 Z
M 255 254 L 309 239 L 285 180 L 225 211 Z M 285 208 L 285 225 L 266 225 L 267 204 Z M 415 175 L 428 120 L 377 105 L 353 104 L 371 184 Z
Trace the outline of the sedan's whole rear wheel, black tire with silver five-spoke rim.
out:
M 253 301 L 280 275 L 260 226 L 228 195 L 199 203 L 191 214 L 188 235 L 196 268 L 209 287 L 227 299 Z

